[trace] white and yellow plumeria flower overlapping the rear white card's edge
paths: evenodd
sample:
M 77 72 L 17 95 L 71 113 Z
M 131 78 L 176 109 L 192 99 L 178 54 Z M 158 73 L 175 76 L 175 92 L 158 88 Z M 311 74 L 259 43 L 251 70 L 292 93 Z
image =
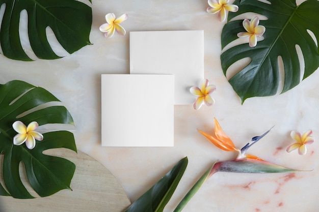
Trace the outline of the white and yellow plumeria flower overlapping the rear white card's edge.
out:
M 201 82 L 200 88 L 193 86 L 190 88 L 190 92 L 197 96 L 193 106 L 194 109 L 198 110 L 204 103 L 207 106 L 210 106 L 215 103 L 215 100 L 211 98 L 211 94 L 215 92 L 216 86 L 215 85 L 208 85 L 208 79 L 203 79 Z

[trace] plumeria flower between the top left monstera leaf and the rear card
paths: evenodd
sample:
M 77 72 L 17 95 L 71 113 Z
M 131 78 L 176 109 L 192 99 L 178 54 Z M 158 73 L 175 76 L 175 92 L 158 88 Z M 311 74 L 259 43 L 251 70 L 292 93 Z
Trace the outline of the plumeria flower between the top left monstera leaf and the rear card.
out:
M 104 33 L 106 38 L 111 38 L 114 35 L 114 31 L 118 32 L 120 35 L 125 35 L 125 29 L 120 25 L 123 21 L 127 19 L 127 14 L 124 13 L 119 18 L 116 18 L 114 13 L 108 13 L 105 15 L 105 20 L 107 23 L 100 25 L 100 31 Z

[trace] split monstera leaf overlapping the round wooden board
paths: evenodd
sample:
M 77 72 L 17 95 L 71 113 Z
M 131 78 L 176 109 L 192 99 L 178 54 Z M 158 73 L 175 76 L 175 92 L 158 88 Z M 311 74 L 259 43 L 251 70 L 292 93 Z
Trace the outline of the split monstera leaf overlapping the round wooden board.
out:
M 42 152 L 62 147 L 76 152 L 72 133 L 44 133 L 43 140 L 37 141 L 32 150 L 26 148 L 25 144 L 13 144 L 13 137 L 17 133 L 13 130 L 12 124 L 16 120 L 26 125 L 38 122 L 40 126 L 55 123 L 73 124 L 67 109 L 57 104 L 55 106 L 53 102 L 59 100 L 41 87 L 23 81 L 0 84 L 0 153 L 3 154 L 3 164 L 0 164 L 0 168 L 5 184 L 0 184 L 0 195 L 33 198 L 21 182 L 20 162 L 24 163 L 30 185 L 41 197 L 52 195 L 62 189 L 70 189 L 75 165 L 66 159 L 44 155 Z

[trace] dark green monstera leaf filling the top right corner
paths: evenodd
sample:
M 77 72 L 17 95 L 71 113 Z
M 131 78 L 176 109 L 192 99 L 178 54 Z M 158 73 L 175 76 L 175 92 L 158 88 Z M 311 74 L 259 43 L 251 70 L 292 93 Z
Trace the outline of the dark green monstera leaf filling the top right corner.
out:
M 305 79 L 319 66 L 319 54 L 316 43 L 307 30 L 319 39 L 319 2 L 307 0 L 297 6 L 294 0 L 269 0 L 263 3 L 257 0 L 236 0 L 239 10 L 229 13 L 228 20 L 254 12 L 268 20 L 260 21 L 265 26 L 264 40 L 256 47 L 248 44 L 234 46 L 221 55 L 224 74 L 227 69 L 240 59 L 249 57 L 251 62 L 229 79 L 229 83 L 242 103 L 250 97 L 272 96 L 277 93 L 279 85 L 278 57 L 284 65 L 284 85 L 282 93 L 299 84 L 301 77 Z M 253 18 L 253 16 L 252 16 Z M 243 20 L 230 21 L 222 31 L 222 48 L 237 39 L 237 33 L 246 32 Z M 303 54 L 305 64 L 304 75 L 301 76 L 298 45 Z

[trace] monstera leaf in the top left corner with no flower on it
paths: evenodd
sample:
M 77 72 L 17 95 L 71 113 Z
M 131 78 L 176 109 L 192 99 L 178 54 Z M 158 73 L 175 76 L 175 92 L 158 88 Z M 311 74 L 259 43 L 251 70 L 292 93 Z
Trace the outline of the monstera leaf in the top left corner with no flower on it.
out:
M 89 0 L 91 2 L 91 0 Z M 31 60 L 19 37 L 20 13 L 28 13 L 28 35 L 34 53 L 43 59 L 60 58 L 50 47 L 46 27 L 50 27 L 64 49 L 73 53 L 90 44 L 92 9 L 75 0 L 0 0 L 5 7 L 0 44 L 3 54 L 12 59 Z

